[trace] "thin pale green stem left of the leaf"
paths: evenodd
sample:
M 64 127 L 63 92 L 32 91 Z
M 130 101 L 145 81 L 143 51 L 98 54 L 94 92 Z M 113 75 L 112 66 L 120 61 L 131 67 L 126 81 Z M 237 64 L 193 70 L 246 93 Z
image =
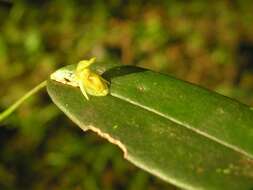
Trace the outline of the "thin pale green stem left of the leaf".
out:
M 0 113 L 0 122 L 8 117 L 12 112 L 14 112 L 26 99 L 28 99 L 33 94 L 37 93 L 40 89 L 44 88 L 47 85 L 47 81 L 43 81 L 39 85 L 35 86 L 29 92 L 27 92 L 24 96 L 18 99 L 14 104 L 12 104 L 9 108 Z

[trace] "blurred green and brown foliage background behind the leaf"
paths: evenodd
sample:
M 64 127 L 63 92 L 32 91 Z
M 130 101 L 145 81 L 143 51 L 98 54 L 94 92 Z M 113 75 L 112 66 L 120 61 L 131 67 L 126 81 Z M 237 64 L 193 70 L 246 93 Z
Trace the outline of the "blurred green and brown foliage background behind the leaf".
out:
M 253 105 L 252 1 L 0 1 L 0 110 L 67 64 L 137 65 Z M 173 187 L 84 133 L 46 91 L 0 128 L 0 189 Z

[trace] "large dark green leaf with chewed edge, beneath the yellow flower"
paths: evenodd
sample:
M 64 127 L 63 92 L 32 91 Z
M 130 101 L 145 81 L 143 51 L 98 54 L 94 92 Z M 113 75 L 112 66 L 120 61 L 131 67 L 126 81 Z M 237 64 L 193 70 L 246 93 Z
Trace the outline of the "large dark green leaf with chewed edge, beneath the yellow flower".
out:
M 110 95 L 86 101 L 78 88 L 48 81 L 54 103 L 79 127 L 95 131 L 118 145 L 127 160 L 179 187 L 253 188 L 248 106 L 137 67 L 97 65 L 95 70 L 111 82 Z

